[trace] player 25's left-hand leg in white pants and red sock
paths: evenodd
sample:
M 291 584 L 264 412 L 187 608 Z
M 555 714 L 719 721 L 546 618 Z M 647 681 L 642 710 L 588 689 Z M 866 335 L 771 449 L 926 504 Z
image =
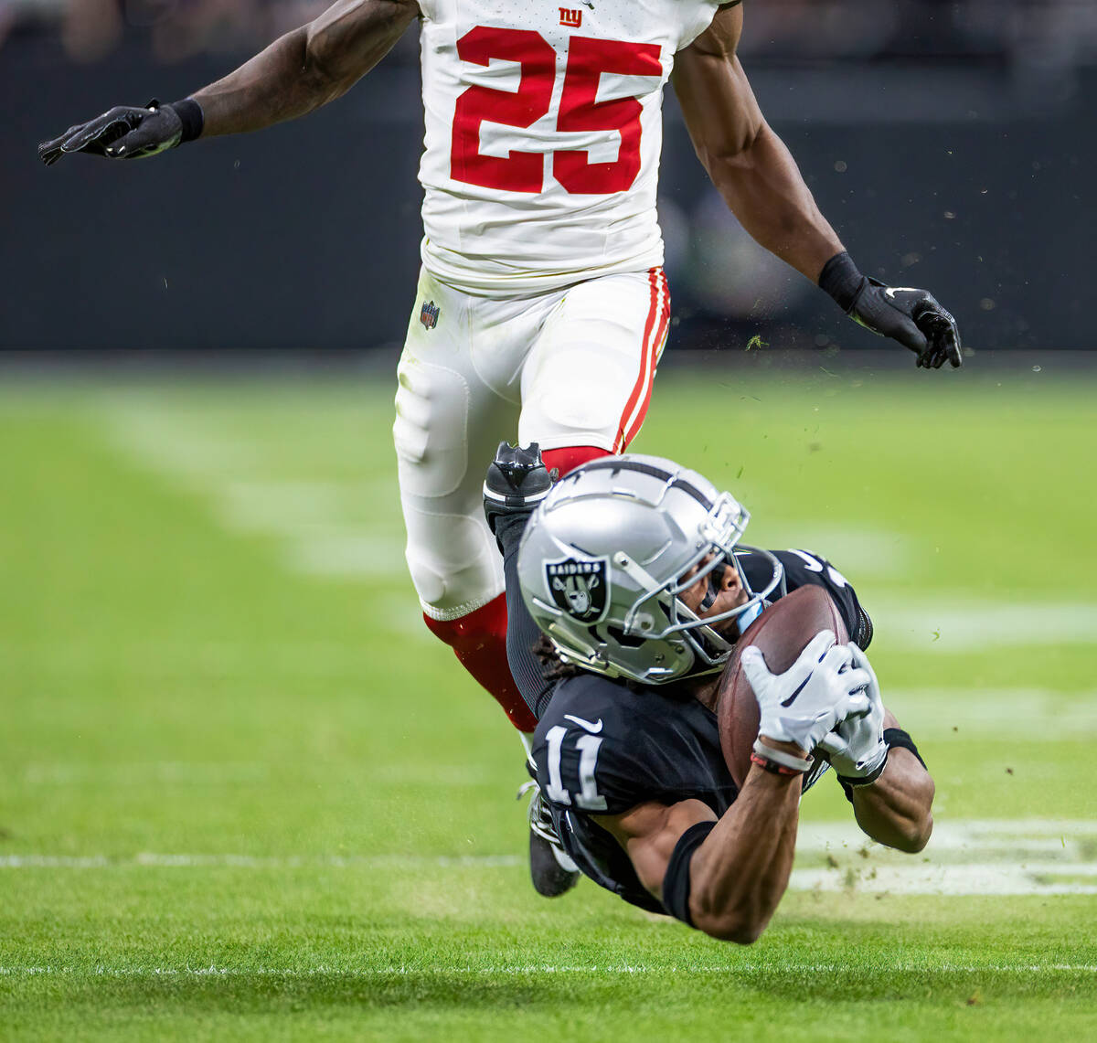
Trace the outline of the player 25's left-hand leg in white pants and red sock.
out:
M 511 315 L 510 313 L 513 313 Z M 430 631 L 521 732 L 535 721 L 510 676 L 502 566 L 484 521 L 484 462 L 518 418 L 520 362 L 476 345 L 520 305 L 470 297 L 427 273 L 398 370 L 396 442 L 407 562 Z

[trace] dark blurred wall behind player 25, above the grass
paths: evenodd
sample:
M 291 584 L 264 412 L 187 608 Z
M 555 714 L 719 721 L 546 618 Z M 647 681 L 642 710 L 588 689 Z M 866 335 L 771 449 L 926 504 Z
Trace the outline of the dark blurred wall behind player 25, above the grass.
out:
M 313 116 L 145 162 L 42 167 L 36 143 L 116 103 L 174 99 L 241 55 L 165 66 L 128 43 L 0 53 L 0 348 L 367 348 L 403 338 L 418 265 L 414 48 Z M 408 57 L 410 55 L 410 58 Z M 242 55 L 246 56 L 246 55 Z M 971 56 L 748 71 L 862 269 L 930 288 L 979 348 L 1093 347 L 1097 75 Z M 875 347 L 714 204 L 672 99 L 663 203 L 675 347 L 760 333 Z

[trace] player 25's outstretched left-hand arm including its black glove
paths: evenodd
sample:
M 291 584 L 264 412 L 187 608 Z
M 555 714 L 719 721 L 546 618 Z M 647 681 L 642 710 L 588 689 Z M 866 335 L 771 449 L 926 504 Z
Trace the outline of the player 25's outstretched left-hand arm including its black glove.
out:
M 196 137 L 294 120 L 346 93 L 417 18 L 416 0 L 338 0 L 236 71 L 171 104 L 118 105 L 38 146 L 47 166 L 67 152 L 140 159 Z

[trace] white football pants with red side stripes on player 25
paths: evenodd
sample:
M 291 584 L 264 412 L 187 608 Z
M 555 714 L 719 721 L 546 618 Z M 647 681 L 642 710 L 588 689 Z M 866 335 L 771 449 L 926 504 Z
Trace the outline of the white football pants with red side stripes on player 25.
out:
M 460 619 L 502 592 L 482 505 L 499 442 L 624 452 L 669 318 L 660 268 L 501 299 L 420 273 L 393 435 L 408 568 L 428 616 Z

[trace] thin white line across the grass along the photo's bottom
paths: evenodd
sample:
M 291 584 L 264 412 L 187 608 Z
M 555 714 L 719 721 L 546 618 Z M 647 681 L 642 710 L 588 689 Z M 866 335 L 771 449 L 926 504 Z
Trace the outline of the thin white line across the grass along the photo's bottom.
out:
M 1097 964 L 1088 963 L 914 963 L 896 961 L 895 963 L 878 963 L 878 970 L 891 971 L 897 974 L 1032 974 L 1042 972 L 1065 972 L 1068 974 L 1097 974 Z M 210 964 L 205 967 L 108 967 L 98 964 L 94 971 L 84 967 L 53 964 L 30 964 L 26 966 L 0 966 L 0 976 L 52 976 L 52 975 L 88 975 L 103 977 L 285 977 L 285 978 L 377 978 L 405 975 L 527 975 L 527 974 L 850 974 L 860 973 L 848 963 L 730 963 L 700 966 L 645 966 L 643 964 L 500 964 L 499 966 L 460 966 L 460 965 L 417 965 L 388 967 L 328 967 L 320 964 L 316 967 L 228 967 Z

